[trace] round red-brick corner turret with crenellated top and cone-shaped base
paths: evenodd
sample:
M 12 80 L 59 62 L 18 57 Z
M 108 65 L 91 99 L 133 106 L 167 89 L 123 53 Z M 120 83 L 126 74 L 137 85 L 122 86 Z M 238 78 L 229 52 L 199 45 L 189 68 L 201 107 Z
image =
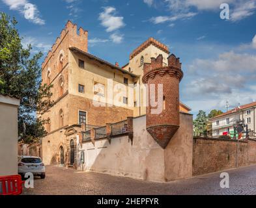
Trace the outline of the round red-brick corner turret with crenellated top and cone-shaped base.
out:
M 163 56 L 158 55 L 156 59 L 151 59 L 151 64 L 145 63 L 142 78 L 143 83 L 148 85 L 148 98 L 150 96 L 147 106 L 147 131 L 163 149 L 180 125 L 179 83 L 183 77 L 180 60 L 173 54 L 167 60 L 168 66 L 163 66 Z M 159 91 L 161 87 L 163 94 Z M 154 95 L 155 98 L 152 98 Z M 150 99 L 162 106 L 152 106 Z

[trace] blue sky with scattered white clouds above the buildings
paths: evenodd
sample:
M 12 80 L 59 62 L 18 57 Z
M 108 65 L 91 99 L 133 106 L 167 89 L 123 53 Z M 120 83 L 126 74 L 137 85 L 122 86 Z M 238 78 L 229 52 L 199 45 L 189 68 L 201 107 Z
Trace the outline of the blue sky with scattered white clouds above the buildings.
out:
M 221 3 L 229 19 L 220 18 Z M 180 57 L 180 97 L 193 114 L 256 101 L 256 0 L 0 0 L 0 9 L 18 20 L 23 44 L 44 55 L 68 19 L 89 31 L 90 53 L 121 65 L 153 36 Z

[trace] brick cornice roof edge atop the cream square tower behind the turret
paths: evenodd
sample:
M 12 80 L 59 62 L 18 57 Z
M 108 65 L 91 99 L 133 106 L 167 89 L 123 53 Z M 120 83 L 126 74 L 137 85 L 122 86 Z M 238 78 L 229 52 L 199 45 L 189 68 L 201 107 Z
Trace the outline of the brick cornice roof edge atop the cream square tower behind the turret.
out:
M 167 47 L 167 45 L 162 44 L 161 42 L 157 41 L 154 38 L 149 38 L 148 40 L 146 40 L 145 42 L 143 42 L 143 44 L 139 45 L 139 47 L 137 47 L 132 54 L 130 55 L 130 59 L 134 58 L 135 55 L 141 53 L 141 51 L 143 51 L 146 47 L 149 47 L 149 45 L 154 45 L 156 47 L 158 47 L 159 49 L 161 49 L 162 51 L 164 51 L 165 53 L 170 53 L 169 52 L 169 48 Z

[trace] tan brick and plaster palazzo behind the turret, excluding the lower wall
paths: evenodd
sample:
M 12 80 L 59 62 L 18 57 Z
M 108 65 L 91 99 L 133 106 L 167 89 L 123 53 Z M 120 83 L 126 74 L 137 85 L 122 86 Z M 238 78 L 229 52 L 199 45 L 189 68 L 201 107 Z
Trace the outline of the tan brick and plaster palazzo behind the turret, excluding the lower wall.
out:
M 131 116 L 145 115 L 146 107 L 134 104 L 138 101 L 137 97 L 144 101 L 145 94 L 141 90 L 137 97 L 129 94 L 135 92 L 135 83 L 142 83 L 144 62 L 139 64 L 138 57 L 144 54 L 147 61 L 163 53 L 164 65 L 167 64 L 169 50 L 154 38 L 149 38 L 135 49 L 130 56 L 128 68 L 120 68 L 119 64 L 113 65 L 88 53 L 87 38 L 87 31 L 82 28 L 78 30 L 77 25 L 68 21 L 42 64 L 42 84 L 53 85 L 51 92 L 55 101 L 55 105 L 42 115 L 50 121 L 45 125 L 48 135 L 42 140 L 42 158 L 45 164 L 76 166 L 74 138 L 83 131 L 83 122 L 88 130 L 106 123 L 120 122 Z M 132 70 L 129 69 L 131 67 Z M 95 85 L 100 85 L 101 96 L 96 93 Z M 108 89 L 120 85 L 126 95 L 119 101 L 121 105 L 113 105 L 109 96 L 115 98 L 119 92 L 109 95 Z M 95 98 L 103 105 L 95 105 Z M 129 103 L 126 103 L 126 99 Z M 130 103 L 132 105 L 128 105 Z M 180 105 L 180 109 L 182 112 L 190 110 L 184 104 Z M 80 112 L 83 114 L 82 120 Z M 132 133 L 129 137 L 132 138 Z

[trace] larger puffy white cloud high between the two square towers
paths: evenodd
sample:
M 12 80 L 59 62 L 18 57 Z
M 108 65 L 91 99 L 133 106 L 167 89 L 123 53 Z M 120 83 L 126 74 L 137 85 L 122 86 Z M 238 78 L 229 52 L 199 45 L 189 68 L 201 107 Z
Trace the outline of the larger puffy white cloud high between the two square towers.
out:
M 125 25 L 124 18 L 122 16 L 115 16 L 115 13 L 116 9 L 113 6 L 104 7 L 104 11 L 100 13 L 101 25 L 106 27 L 107 32 L 116 31 Z

